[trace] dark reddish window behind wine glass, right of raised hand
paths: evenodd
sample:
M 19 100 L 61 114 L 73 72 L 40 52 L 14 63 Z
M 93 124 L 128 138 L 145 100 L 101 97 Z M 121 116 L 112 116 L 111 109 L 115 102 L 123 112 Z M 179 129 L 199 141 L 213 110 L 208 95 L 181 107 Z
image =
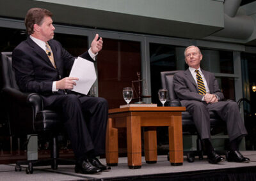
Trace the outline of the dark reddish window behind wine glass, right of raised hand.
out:
M 108 100 L 109 108 L 125 105 L 122 90 L 132 87 L 141 71 L 140 42 L 104 38 L 97 67 L 99 96 Z

